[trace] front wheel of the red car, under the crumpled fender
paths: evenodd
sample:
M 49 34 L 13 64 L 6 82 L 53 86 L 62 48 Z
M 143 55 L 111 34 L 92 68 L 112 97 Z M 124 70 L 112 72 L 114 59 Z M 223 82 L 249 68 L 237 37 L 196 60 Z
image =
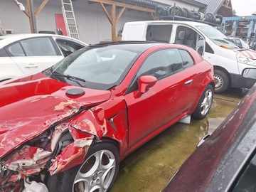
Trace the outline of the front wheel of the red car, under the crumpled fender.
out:
M 107 191 L 114 183 L 118 169 L 117 146 L 109 142 L 93 144 L 82 165 L 49 176 L 48 189 L 50 192 Z

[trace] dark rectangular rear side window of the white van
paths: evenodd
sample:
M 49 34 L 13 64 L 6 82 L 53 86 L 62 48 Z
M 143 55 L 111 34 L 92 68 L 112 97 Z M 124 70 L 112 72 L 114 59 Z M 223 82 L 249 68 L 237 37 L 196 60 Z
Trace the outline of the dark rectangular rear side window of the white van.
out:
M 149 25 L 146 29 L 146 41 L 169 43 L 172 25 Z

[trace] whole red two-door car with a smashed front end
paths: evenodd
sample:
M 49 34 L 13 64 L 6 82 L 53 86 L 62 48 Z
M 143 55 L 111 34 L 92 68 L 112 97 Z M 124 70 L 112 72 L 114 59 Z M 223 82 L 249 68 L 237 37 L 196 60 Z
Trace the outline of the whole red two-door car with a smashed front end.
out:
M 82 48 L 0 85 L 0 191 L 107 191 L 119 161 L 171 124 L 206 117 L 213 67 L 149 42 Z

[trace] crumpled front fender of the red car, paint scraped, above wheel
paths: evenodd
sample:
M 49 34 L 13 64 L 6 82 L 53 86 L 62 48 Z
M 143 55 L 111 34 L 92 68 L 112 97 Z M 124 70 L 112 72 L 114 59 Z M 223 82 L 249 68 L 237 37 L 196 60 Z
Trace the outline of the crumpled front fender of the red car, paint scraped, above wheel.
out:
M 70 122 L 68 129 L 74 142 L 52 160 L 53 165 L 49 169 L 51 175 L 82 164 L 93 139 L 100 139 L 107 134 L 104 110 L 95 108 L 94 111 L 82 112 Z

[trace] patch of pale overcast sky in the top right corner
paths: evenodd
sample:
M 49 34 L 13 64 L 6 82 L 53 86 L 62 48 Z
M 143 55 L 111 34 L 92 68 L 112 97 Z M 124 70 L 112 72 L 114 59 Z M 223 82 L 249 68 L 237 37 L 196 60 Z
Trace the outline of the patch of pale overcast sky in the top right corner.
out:
M 256 12 L 256 0 L 231 0 L 238 16 L 251 16 Z

